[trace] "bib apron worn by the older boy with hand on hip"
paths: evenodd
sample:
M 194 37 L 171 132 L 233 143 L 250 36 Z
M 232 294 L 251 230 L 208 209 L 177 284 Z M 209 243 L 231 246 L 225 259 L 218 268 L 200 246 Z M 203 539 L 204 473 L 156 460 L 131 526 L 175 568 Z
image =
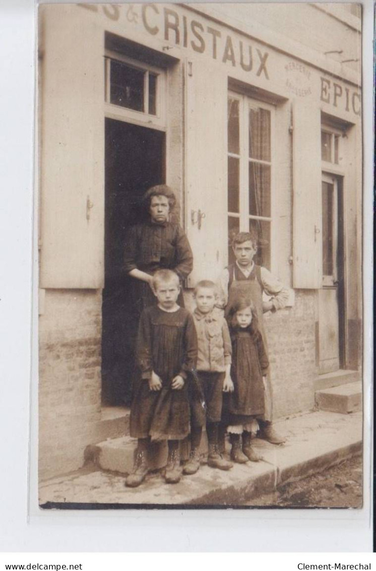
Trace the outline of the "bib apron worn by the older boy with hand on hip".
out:
M 232 264 L 231 266 L 228 266 L 227 269 L 229 278 L 228 301 L 224 311 L 224 316 L 228 319 L 228 313 L 230 312 L 235 299 L 238 299 L 238 297 L 250 297 L 255 304 L 259 320 L 259 331 L 263 337 L 265 351 L 268 354 L 268 344 L 263 322 L 263 284 L 261 282 L 261 267 L 254 264 L 248 278 L 239 270 L 237 264 Z M 272 385 L 269 375 L 267 375 L 264 392 L 264 415 L 260 418 L 261 420 L 272 420 Z

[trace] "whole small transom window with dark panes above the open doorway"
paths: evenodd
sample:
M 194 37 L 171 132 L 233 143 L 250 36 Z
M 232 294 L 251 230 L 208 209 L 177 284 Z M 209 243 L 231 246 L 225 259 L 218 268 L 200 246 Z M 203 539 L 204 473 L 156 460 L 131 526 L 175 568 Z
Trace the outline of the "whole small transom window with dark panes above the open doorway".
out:
M 117 52 L 106 52 L 106 116 L 163 127 L 165 85 L 164 70 L 146 66 Z

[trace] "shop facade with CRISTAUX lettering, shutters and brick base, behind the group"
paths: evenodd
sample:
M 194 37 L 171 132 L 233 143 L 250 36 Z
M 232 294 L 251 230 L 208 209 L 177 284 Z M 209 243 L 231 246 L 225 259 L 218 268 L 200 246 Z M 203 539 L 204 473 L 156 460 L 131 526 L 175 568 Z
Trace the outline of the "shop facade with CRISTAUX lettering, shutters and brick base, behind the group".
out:
M 318 379 L 361 369 L 361 19 L 308 4 L 39 16 L 40 477 L 118 436 L 111 356 L 126 340 L 111 324 L 124 234 L 152 184 L 177 194 L 188 307 L 231 237 L 257 228 L 258 262 L 291 288 L 265 315 L 275 417 L 311 410 Z

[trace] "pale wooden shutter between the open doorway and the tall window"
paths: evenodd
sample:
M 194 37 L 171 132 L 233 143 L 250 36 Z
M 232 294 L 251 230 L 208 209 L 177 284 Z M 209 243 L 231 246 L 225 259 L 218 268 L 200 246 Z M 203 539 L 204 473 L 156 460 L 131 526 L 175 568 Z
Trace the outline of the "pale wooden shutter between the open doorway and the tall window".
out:
M 188 280 L 217 280 L 227 243 L 227 75 L 220 66 L 187 62 L 186 223 L 194 267 Z M 205 214 L 201 228 L 198 211 Z

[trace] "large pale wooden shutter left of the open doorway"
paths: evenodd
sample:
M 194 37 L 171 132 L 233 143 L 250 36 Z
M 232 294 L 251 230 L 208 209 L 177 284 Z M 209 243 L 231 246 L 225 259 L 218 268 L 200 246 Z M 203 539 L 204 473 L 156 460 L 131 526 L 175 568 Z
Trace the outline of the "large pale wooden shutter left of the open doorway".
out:
M 104 34 L 92 13 L 79 6 L 39 10 L 40 287 L 99 288 L 104 273 Z

